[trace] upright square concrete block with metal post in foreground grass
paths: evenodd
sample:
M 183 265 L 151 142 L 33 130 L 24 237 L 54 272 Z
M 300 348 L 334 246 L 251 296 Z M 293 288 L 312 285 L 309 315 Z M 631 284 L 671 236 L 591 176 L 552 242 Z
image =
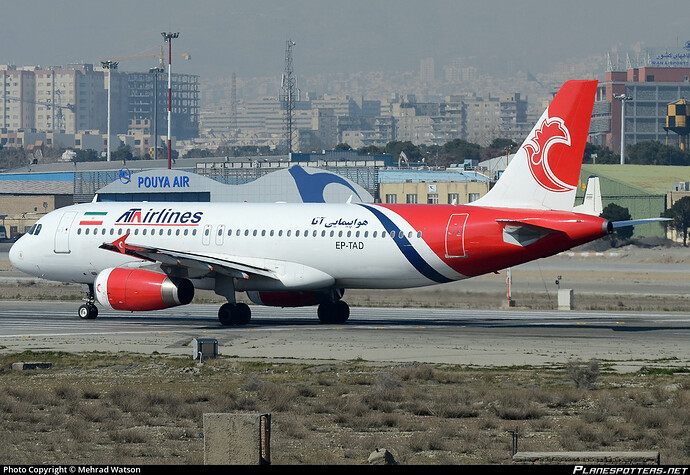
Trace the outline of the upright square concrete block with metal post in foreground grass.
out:
M 206 465 L 269 464 L 269 440 L 270 415 L 204 414 Z

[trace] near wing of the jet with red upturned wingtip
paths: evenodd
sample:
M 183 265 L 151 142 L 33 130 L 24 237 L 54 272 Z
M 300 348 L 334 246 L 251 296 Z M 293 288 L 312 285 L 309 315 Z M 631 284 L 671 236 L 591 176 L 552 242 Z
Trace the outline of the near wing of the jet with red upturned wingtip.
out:
M 227 258 L 226 256 L 128 244 L 125 242 L 128 237 L 129 234 L 125 234 L 112 243 L 101 244 L 99 248 L 150 262 L 160 262 L 168 266 L 185 267 L 195 271 L 200 276 L 216 272 L 238 279 L 248 279 L 251 275 L 255 275 L 279 280 L 273 271 L 252 265 L 249 262 L 242 262 L 243 259 L 239 257 Z

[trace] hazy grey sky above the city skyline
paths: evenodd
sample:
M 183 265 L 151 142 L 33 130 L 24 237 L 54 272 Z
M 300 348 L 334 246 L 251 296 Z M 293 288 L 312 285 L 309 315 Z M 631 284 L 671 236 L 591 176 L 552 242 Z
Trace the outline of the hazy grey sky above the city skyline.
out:
M 156 54 L 161 32 L 179 32 L 173 71 L 215 78 L 279 76 L 285 41 L 302 77 L 410 71 L 473 58 L 534 73 L 618 47 L 690 40 L 687 0 L 0 0 L 0 64 L 99 64 Z M 166 53 L 167 54 L 167 53 Z M 145 71 L 154 59 L 121 61 Z

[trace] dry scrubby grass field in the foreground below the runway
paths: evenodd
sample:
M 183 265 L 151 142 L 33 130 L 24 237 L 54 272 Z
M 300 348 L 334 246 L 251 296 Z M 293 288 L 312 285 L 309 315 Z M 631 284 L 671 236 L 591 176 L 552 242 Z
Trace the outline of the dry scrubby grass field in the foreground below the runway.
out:
M 12 371 L 17 361 L 49 370 Z M 574 363 L 580 364 L 580 363 Z M 586 365 L 586 363 L 581 363 Z M 585 366 L 586 369 L 586 366 Z M 203 414 L 271 413 L 274 464 L 508 464 L 521 450 L 658 450 L 690 463 L 686 373 L 23 353 L 0 357 L 6 464 L 202 464 Z

